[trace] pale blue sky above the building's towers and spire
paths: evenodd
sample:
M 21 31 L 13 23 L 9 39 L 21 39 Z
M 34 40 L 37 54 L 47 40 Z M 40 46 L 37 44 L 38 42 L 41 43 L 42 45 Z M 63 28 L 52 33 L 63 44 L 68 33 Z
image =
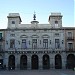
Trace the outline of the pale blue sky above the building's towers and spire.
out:
M 34 11 L 39 24 L 49 24 L 51 12 L 60 12 L 63 27 L 75 27 L 75 0 L 1 0 L 0 1 L 0 29 L 7 28 L 9 13 L 19 13 L 22 24 L 30 24 Z

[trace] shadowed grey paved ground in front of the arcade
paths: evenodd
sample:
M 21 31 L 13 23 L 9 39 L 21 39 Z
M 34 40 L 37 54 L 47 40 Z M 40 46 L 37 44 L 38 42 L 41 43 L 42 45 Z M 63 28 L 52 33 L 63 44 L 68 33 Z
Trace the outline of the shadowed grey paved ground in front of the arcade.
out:
M 0 75 L 75 75 L 73 70 L 16 70 L 0 71 Z

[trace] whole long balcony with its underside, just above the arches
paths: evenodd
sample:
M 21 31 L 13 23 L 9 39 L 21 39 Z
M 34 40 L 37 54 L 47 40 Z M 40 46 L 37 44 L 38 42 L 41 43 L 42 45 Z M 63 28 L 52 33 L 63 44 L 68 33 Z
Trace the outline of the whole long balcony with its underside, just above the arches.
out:
M 44 49 L 44 48 L 37 48 L 37 49 L 32 49 L 32 48 L 27 48 L 27 49 L 23 49 L 23 48 L 8 48 L 5 52 L 10 53 L 10 54 L 27 54 L 27 53 L 62 53 L 62 52 L 66 52 L 65 50 L 62 49 L 52 49 L 52 48 L 48 48 L 48 49 Z

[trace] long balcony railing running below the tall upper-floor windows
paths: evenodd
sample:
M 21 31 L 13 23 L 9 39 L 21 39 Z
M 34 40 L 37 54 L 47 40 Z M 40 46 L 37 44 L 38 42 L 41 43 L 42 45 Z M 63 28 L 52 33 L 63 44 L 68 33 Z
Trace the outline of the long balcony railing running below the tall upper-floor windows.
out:
M 18 52 L 18 51 L 19 51 L 19 52 L 26 52 L 26 51 L 27 51 L 27 52 L 29 52 L 29 51 L 31 51 L 31 52 L 33 52 L 33 51 L 34 51 L 34 52 L 35 52 L 35 51 L 36 51 L 36 52 L 38 52 L 38 51 L 39 51 L 39 52 L 40 52 L 40 51 L 50 51 L 50 52 L 53 52 L 53 53 L 54 53 L 54 52 L 59 52 L 59 51 L 60 51 L 60 52 L 62 52 L 62 51 L 64 52 L 65 50 L 63 50 L 63 49 L 54 49 L 54 48 L 53 48 L 53 49 L 52 49 L 52 48 L 48 48 L 48 49 L 44 49 L 44 48 L 36 48 L 36 49 L 33 49 L 33 48 L 26 48 L 26 49 L 24 49 L 24 48 L 17 48 L 17 49 L 16 49 L 16 48 L 8 48 L 8 49 L 5 50 L 5 51 L 12 51 L 12 52 L 13 52 L 13 51 L 14 51 L 14 52 Z

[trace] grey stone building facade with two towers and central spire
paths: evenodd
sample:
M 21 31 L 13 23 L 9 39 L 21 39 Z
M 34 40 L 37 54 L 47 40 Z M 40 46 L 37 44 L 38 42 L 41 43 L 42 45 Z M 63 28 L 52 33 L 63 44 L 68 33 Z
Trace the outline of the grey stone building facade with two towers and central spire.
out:
M 7 29 L 0 30 L 1 66 L 11 70 L 75 66 L 75 28 L 62 27 L 61 13 L 51 13 L 49 24 L 39 24 L 36 14 L 31 24 L 21 24 L 19 13 L 7 17 Z

